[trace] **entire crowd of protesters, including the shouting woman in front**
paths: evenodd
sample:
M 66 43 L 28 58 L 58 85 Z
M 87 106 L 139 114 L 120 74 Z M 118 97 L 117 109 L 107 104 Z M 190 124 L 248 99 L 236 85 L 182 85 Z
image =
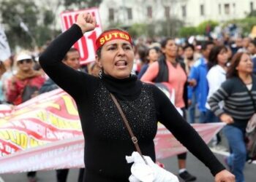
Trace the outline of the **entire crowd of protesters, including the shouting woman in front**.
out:
M 222 132 L 230 148 L 225 162 L 236 182 L 244 182 L 244 134 L 256 102 L 256 40 L 208 38 L 176 44 L 175 39 L 165 38 L 148 43 L 132 41 L 126 31 L 111 29 L 99 38 L 123 33 L 129 39 L 97 41 L 96 61 L 81 66 L 78 50 L 71 47 L 94 27 L 94 18 L 79 15 L 68 31 L 37 52 L 39 60 L 28 51 L 1 60 L 1 103 L 18 105 L 59 87 L 75 99 L 86 138 L 86 169 L 80 170 L 78 181 L 128 181 L 131 165 L 124 157 L 135 149 L 118 111 L 110 109 L 114 105 L 109 93 L 116 96 L 132 123 L 143 155 L 155 161 L 153 138 L 157 122 L 162 122 L 216 180 L 233 181 L 189 124 L 225 122 Z M 157 89 L 161 83 L 174 90 L 173 103 Z M 221 142 L 219 134 L 214 142 Z M 178 154 L 178 175 L 184 181 L 195 181 L 196 174 L 187 170 L 186 157 L 186 153 Z M 56 174 L 56 181 L 66 181 L 68 170 Z M 36 172 L 27 175 L 29 181 L 37 181 Z

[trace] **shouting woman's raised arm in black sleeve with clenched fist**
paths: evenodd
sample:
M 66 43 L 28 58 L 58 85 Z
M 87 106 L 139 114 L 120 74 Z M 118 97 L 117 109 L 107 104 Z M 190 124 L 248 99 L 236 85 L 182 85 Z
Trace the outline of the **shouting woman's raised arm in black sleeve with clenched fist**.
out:
M 70 95 L 78 97 L 82 94 L 82 85 L 86 84 L 85 74 L 62 63 L 70 47 L 83 36 L 86 31 L 94 30 L 95 18 L 90 14 L 78 15 L 77 22 L 64 33 L 61 33 L 39 57 L 39 63 L 51 79 Z

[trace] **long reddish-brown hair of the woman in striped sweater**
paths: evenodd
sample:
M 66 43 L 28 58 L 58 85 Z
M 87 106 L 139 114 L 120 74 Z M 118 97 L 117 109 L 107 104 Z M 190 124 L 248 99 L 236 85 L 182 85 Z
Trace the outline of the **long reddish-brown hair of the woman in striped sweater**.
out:
M 227 68 L 227 79 L 238 76 L 238 71 L 236 70 L 236 67 L 240 63 L 241 57 L 244 54 L 247 55 L 246 52 L 238 52 L 235 55 L 233 55 L 230 66 L 228 66 Z

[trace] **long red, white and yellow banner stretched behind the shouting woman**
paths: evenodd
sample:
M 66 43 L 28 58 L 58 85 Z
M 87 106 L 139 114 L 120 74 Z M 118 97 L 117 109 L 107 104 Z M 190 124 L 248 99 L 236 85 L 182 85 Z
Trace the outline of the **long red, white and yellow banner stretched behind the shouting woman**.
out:
M 0 173 L 83 167 L 83 132 L 75 101 L 66 92 L 53 90 L 2 111 Z M 192 126 L 208 143 L 224 124 Z M 162 124 L 154 143 L 157 159 L 186 151 Z

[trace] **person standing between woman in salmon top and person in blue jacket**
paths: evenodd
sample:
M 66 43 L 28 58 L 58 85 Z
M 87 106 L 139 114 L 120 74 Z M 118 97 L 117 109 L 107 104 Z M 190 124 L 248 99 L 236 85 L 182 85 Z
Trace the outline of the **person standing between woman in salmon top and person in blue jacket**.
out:
M 187 75 L 189 75 L 190 70 L 192 66 L 195 64 L 195 47 L 193 44 L 186 44 L 184 46 L 184 64 L 185 64 L 185 70 Z M 188 86 L 191 87 L 191 86 Z M 192 89 L 192 92 L 190 92 L 189 98 L 192 98 L 191 100 L 188 100 L 188 112 L 189 112 L 189 123 L 195 123 L 195 110 L 196 110 L 196 103 L 197 99 L 195 98 L 195 90 Z

